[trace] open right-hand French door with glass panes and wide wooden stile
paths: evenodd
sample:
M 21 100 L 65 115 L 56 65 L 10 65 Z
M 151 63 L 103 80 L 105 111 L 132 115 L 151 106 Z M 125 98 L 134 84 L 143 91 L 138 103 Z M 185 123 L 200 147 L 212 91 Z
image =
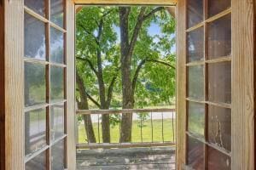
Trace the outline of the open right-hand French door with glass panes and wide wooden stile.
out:
M 254 169 L 253 3 L 177 2 L 177 169 Z

